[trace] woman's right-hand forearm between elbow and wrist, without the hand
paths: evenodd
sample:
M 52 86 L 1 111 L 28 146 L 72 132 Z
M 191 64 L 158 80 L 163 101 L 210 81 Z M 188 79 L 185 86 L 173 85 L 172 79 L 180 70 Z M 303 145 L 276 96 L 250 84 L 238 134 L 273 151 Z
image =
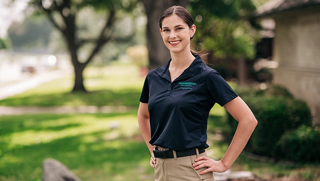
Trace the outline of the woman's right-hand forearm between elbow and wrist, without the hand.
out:
M 239 121 L 236 133 L 230 143 L 230 146 L 221 159 L 221 162 L 225 166 L 226 170 L 231 167 L 231 165 L 234 163 L 234 161 L 236 161 L 242 152 L 257 123 L 258 122 L 256 119 L 251 119 L 250 121 Z

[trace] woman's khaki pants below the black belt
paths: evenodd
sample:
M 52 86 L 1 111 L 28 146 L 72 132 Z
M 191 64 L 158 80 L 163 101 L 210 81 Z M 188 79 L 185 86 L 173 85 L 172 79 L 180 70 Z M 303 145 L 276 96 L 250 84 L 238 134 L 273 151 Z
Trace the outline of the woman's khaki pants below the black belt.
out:
M 175 155 L 175 153 L 174 153 Z M 206 152 L 199 156 L 206 156 Z M 192 166 L 197 155 L 188 157 L 160 159 L 155 164 L 155 181 L 215 181 L 213 172 L 200 175 L 199 173 L 207 167 L 195 170 Z

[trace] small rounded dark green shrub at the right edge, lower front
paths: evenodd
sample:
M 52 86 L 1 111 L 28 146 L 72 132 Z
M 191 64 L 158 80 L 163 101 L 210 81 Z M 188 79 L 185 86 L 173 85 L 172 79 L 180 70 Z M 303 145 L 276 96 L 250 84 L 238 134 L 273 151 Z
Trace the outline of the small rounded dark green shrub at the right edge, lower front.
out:
M 307 126 L 283 134 L 276 146 L 277 157 L 298 162 L 320 162 L 319 151 L 320 131 Z

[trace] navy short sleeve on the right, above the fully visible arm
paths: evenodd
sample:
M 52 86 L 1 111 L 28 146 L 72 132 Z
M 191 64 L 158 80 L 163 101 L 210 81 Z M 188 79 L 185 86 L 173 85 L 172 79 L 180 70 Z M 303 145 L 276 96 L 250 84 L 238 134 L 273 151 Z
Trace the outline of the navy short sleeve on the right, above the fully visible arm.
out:
M 238 97 L 230 85 L 215 70 L 208 74 L 206 88 L 209 97 L 220 106 Z

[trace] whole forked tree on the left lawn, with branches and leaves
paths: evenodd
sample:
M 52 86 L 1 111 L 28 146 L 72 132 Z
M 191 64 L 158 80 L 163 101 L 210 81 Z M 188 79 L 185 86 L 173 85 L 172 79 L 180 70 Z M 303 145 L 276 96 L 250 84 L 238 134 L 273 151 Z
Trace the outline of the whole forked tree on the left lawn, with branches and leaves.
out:
M 37 12 L 45 14 L 52 24 L 61 32 L 66 40 L 68 52 L 75 71 L 74 91 L 83 91 L 82 72 L 85 66 L 93 60 L 102 46 L 110 40 L 121 40 L 121 37 L 114 29 L 117 14 L 124 11 L 130 11 L 135 7 L 136 0 L 31 0 L 31 7 Z M 96 11 L 105 12 L 105 22 L 100 27 L 100 33 L 94 37 L 79 36 L 79 27 L 77 26 L 78 13 L 84 7 L 91 6 Z M 99 25 L 97 25 L 99 27 Z M 80 47 L 85 44 L 93 44 L 91 53 L 84 60 L 80 60 L 78 53 Z

